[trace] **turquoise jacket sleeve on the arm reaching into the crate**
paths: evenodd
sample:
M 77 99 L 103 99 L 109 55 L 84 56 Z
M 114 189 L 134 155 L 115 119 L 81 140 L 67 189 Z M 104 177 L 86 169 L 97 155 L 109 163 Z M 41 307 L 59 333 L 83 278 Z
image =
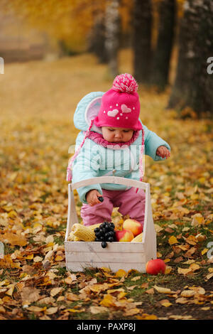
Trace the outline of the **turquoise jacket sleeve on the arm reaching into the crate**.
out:
M 77 150 L 78 146 L 79 141 L 77 140 L 75 150 Z M 72 165 L 72 183 L 97 177 L 99 166 L 100 154 L 98 146 L 93 146 L 90 139 L 86 139 L 80 153 L 77 155 L 77 158 Z M 99 184 L 77 188 L 77 193 L 82 203 L 87 203 L 86 195 L 88 191 L 92 189 L 96 189 L 102 194 L 102 188 Z

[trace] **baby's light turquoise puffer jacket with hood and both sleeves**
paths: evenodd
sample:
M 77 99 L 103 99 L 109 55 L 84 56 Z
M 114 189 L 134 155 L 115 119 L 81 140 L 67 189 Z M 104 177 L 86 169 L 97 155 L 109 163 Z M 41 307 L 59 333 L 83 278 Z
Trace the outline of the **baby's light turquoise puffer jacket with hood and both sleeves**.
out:
M 77 135 L 75 151 L 84 139 L 84 131 L 87 131 L 89 125 L 85 117 L 87 106 L 97 97 L 102 97 L 104 92 L 92 92 L 81 99 L 77 104 L 74 114 L 74 124 L 80 133 Z M 142 124 L 142 123 L 141 123 Z M 143 124 L 142 124 L 143 125 Z M 93 126 L 92 131 L 101 134 L 101 129 Z M 156 150 L 164 145 L 170 150 L 166 141 L 161 139 L 153 131 L 143 125 L 144 130 L 144 153 L 151 156 L 154 161 L 164 160 L 156 156 Z M 80 153 L 75 158 L 72 165 L 72 183 L 95 178 L 98 176 L 119 176 L 139 181 L 139 156 L 141 151 L 142 131 L 139 131 L 138 137 L 129 145 L 118 146 L 115 148 L 106 147 L 102 141 L 85 139 Z M 77 192 L 82 203 L 87 203 L 86 194 L 89 190 L 96 189 L 102 194 L 102 189 L 107 190 L 127 190 L 130 187 L 126 185 L 102 183 L 88 185 L 78 188 Z

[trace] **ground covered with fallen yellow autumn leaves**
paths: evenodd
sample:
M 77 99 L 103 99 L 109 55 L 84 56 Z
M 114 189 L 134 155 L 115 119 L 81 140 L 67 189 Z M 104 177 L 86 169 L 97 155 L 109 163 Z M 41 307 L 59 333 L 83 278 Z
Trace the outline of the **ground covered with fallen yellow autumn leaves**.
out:
M 121 53 L 121 72 L 130 64 Z M 165 110 L 169 92 L 140 87 L 141 120 L 172 149 L 168 161 L 146 157 L 166 274 L 72 273 L 64 250 L 72 115 L 88 92 L 109 89 L 107 68 L 91 55 L 10 64 L 0 82 L 0 319 L 212 319 L 211 122 L 181 120 Z

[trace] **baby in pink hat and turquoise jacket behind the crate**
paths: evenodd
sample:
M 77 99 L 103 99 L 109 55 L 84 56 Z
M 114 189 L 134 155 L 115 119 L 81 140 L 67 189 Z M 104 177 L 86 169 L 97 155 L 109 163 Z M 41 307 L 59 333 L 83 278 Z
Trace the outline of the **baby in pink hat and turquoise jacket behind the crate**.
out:
M 89 93 L 80 101 L 74 123 L 82 131 L 77 136 L 75 154 L 67 168 L 67 181 L 75 183 L 110 175 L 142 181 L 143 153 L 155 161 L 170 156 L 168 143 L 148 130 L 139 119 L 137 90 L 136 80 L 126 73 L 118 75 L 107 92 Z M 83 203 L 84 225 L 111 221 L 113 208 L 119 208 L 121 215 L 129 215 L 143 225 L 143 190 L 102 183 L 78 188 L 77 192 Z

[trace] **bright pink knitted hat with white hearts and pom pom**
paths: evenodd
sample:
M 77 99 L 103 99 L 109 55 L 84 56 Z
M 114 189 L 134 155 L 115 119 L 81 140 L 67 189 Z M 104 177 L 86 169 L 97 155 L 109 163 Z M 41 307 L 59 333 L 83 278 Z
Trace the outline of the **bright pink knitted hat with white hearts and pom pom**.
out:
M 132 75 L 128 73 L 118 75 L 111 89 L 102 96 L 102 104 L 99 114 L 94 119 L 94 125 L 141 130 L 137 90 L 138 84 Z

